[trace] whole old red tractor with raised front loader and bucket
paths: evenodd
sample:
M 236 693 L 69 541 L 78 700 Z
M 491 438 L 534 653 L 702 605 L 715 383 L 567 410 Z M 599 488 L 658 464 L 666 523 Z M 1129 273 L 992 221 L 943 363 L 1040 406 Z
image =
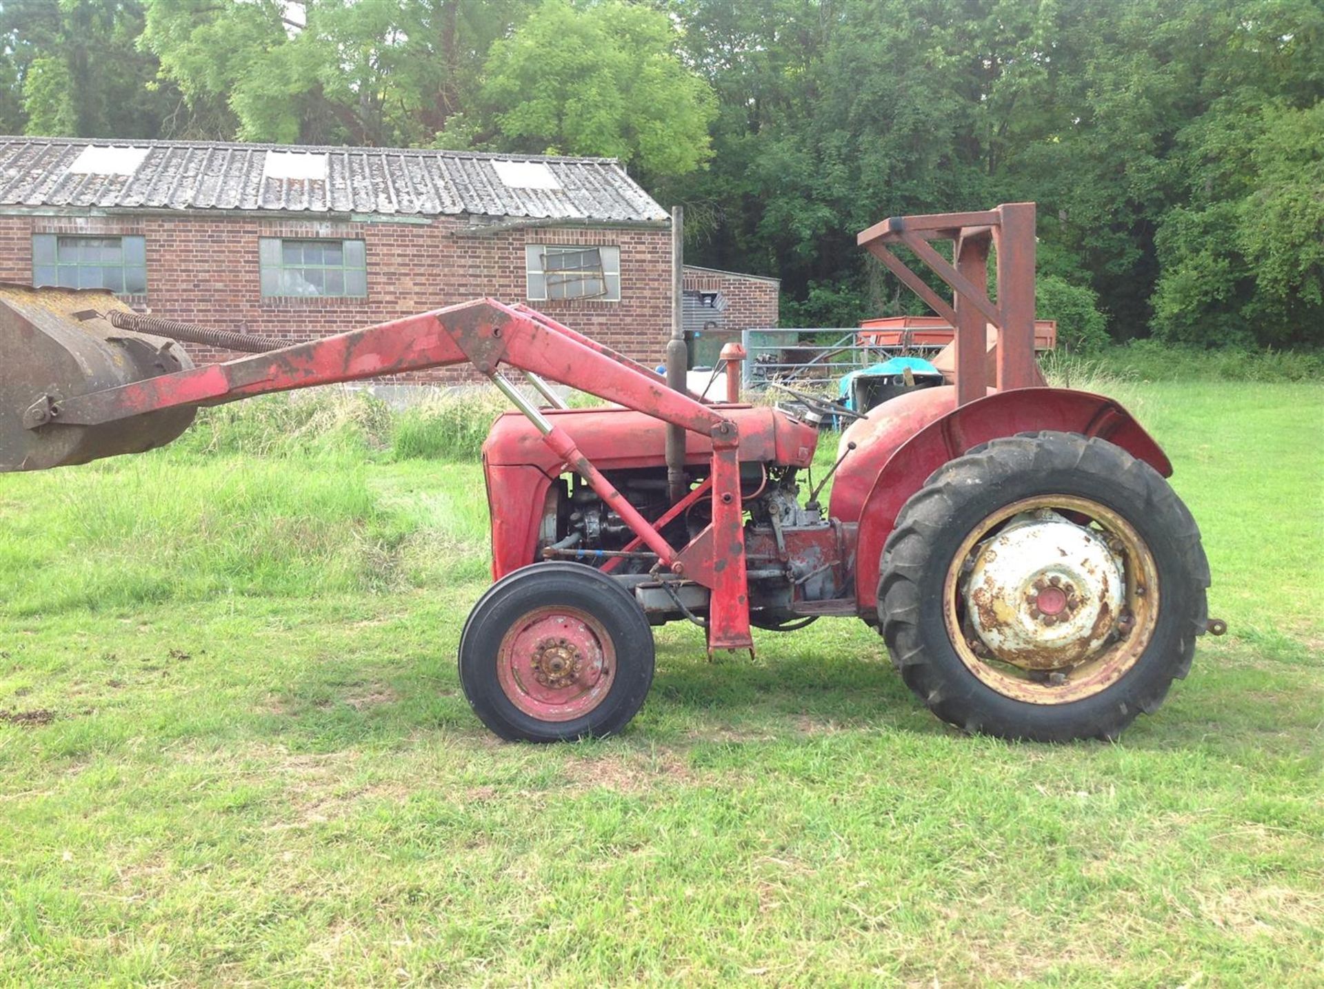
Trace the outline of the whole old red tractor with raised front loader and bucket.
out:
M 955 263 L 937 238 L 955 242 Z M 1039 387 L 1033 204 L 895 217 L 859 241 L 956 327 L 955 387 L 866 417 L 796 395 L 790 413 L 698 399 L 491 299 L 278 347 L 103 293 L 9 289 L 0 470 L 144 450 L 201 405 L 469 361 L 519 410 L 483 447 L 495 583 L 459 643 L 465 694 L 502 737 L 624 728 L 653 681 L 651 625 L 692 621 L 710 650 L 749 650 L 751 626 L 829 616 L 875 626 L 919 699 L 967 731 L 1116 736 L 1186 674 L 1196 637 L 1221 630 L 1172 466 L 1117 402 Z M 898 242 L 953 303 L 891 253 Z M 996 302 L 982 290 L 990 248 Z M 260 352 L 193 368 L 179 339 Z M 621 408 L 567 409 L 544 379 Z M 854 421 L 825 507 L 822 479 L 801 495 L 829 417 Z

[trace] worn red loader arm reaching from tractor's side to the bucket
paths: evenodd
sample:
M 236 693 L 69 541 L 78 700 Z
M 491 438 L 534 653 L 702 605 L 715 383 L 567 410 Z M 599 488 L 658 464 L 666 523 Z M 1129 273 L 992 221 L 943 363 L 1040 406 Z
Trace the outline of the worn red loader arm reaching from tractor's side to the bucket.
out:
M 716 408 L 669 388 L 661 375 L 524 306 L 475 299 L 224 364 L 158 375 L 85 395 L 42 395 L 25 409 L 23 425 L 30 430 L 60 430 L 95 428 L 138 416 L 148 421 L 152 413 L 167 409 L 218 405 L 271 392 L 466 361 L 493 380 L 534 421 L 557 457 L 657 553 L 661 568 L 712 592 L 708 647 L 752 647 L 736 424 Z M 589 463 L 573 440 L 500 376 L 503 365 L 710 438 L 712 523 L 687 547 L 669 545 L 658 528 Z M 494 511 L 499 507 L 499 502 L 494 502 Z M 528 508 L 510 506 L 511 511 Z

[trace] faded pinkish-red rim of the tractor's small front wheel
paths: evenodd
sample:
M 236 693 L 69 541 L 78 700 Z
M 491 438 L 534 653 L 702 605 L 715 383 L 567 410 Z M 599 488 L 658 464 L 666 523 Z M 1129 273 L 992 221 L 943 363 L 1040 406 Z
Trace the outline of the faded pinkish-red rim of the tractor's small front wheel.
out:
M 496 679 L 506 699 L 531 718 L 569 722 L 610 692 L 616 650 L 602 624 L 587 612 L 538 608 L 502 638 Z

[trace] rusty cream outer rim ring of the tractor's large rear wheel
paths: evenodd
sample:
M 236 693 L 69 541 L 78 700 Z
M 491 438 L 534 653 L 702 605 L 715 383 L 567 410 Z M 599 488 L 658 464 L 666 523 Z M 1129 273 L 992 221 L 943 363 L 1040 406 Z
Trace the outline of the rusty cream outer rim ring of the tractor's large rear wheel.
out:
M 1019 657 L 998 655 L 981 638 L 967 614 L 963 580 L 978 560 L 981 549 L 1013 516 L 1041 511 L 1057 512 L 1063 520 L 1102 538 L 1119 561 L 1124 590 L 1121 614 L 1108 641 L 1084 658 L 1061 667 L 1026 669 Z M 1053 613 L 1064 601 L 1054 583 L 1038 592 L 1029 589 L 1026 597 L 1017 598 L 1012 605 L 1033 608 L 1037 593 L 1046 604 L 1045 610 Z M 1119 512 L 1076 495 L 1037 495 L 998 508 L 970 531 L 952 557 L 943 600 L 948 637 L 957 657 L 974 677 L 1014 700 L 1067 704 L 1102 694 L 1139 662 L 1153 638 L 1158 618 L 1158 575 L 1149 547 Z

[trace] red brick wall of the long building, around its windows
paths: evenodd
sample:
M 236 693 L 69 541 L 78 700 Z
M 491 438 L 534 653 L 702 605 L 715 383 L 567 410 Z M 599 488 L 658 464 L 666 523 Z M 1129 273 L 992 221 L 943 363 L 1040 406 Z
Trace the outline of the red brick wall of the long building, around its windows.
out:
M 346 222 L 266 217 L 0 216 L 0 281 L 32 283 L 32 234 L 143 234 L 147 297 L 131 299 L 155 315 L 221 328 L 307 340 L 413 312 L 490 295 L 524 301 L 526 244 L 621 248 L 621 301 L 532 303 L 567 326 L 649 365 L 662 360 L 671 319 L 671 246 L 666 229 L 526 228 L 471 233 L 467 217 L 426 224 Z M 466 233 L 469 232 L 469 233 Z M 367 241 L 368 295 L 361 299 L 265 299 L 260 237 L 344 237 Z M 195 360 L 229 360 L 230 351 L 192 347 Z M 396 376 L 391 381 L 473 380 L 463 368 Z

